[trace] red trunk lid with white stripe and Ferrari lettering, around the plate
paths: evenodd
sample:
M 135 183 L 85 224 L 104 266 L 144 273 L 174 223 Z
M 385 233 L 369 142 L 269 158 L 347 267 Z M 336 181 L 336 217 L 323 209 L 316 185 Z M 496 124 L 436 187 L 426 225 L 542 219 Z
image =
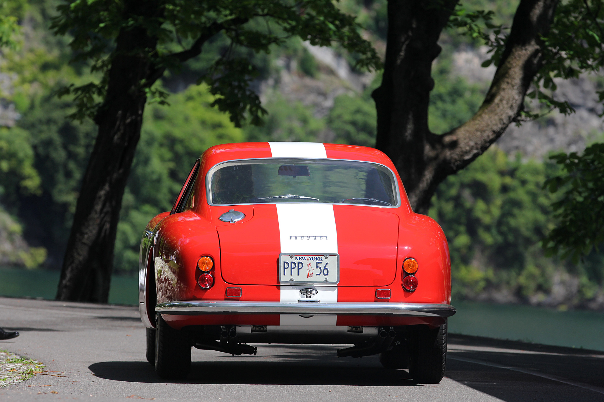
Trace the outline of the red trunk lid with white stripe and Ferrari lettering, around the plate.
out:
M 398 215 L 387 209 L 329 204 L 254 207 L 251 219 L 217 227 L 220 271 L 227 283 L 275 285 L 281 252 L 338 253 L 338 286 L 387 286 L 396 276 L 398 227 Z

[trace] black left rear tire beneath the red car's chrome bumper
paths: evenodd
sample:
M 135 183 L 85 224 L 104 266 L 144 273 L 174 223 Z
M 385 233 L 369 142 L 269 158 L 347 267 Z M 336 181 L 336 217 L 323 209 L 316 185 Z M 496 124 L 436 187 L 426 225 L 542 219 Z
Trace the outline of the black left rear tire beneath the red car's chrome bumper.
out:
M 191 341 L 170 327 L 161 315 L 155 319 L 155 372 L 159 378 L 182 380 L 191 370 Z

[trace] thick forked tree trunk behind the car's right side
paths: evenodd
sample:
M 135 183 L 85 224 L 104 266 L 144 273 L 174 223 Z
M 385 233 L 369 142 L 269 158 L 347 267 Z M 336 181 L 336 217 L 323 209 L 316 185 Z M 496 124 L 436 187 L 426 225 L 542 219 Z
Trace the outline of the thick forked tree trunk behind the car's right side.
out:
M 436 187 L 463 169 L 504 133 L 518 116 L 542 64 L 542 40 L 557 0 L 521 0 L 506 49 L 477 113 L 443 135 L 428 128 L 431 64 L 438 39 L 457 0 L 388 1 L 384 77 L 372 96 L 377 108 L 376 147 L 399 171 L 411 206 L 427 213 Z

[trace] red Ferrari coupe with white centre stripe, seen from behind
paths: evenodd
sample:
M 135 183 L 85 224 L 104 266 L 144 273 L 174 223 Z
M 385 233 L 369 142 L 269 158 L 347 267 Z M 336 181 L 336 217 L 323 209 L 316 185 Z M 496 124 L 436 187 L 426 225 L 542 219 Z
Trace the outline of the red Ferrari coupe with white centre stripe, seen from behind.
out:
M 188 374 L 191 347 L 240 355 L 268 343 L 353 344 L 338 356 L 443 377 L 447 240 L 413 213 L 377 149 L 213 146 L 147 225 L 139 268 L 147 360 L 162 378 Z

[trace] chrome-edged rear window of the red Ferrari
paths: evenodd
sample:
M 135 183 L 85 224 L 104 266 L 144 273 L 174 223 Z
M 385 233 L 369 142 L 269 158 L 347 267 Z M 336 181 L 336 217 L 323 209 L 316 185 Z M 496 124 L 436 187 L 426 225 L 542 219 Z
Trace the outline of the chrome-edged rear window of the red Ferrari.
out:
M 333 159 L 247 159 L 221 163 L 208 173 L 214 205 L 341 203 L 392 207 L 390 169 L 370 162 Z

